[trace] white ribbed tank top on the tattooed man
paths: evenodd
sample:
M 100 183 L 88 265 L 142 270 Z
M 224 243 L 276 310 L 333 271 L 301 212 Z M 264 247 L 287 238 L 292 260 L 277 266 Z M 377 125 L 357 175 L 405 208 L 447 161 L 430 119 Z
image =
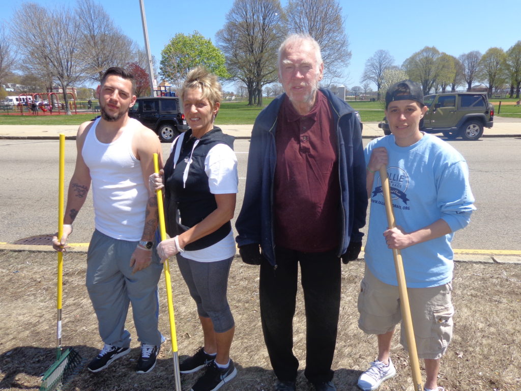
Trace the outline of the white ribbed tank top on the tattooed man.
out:
M 99 122 L 96 119 L 89 130 L 81 151 L 92 178 L 95 227 L 111 238 L 141 240 L 148 191 L 132 152 L 136 127 L 129 123 L 117 140 L 105 144 L 96 137 Z

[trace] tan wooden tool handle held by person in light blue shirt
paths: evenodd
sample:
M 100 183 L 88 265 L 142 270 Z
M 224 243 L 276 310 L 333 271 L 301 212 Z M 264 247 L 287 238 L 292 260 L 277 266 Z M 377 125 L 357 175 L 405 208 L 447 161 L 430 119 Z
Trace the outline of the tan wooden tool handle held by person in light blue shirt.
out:
M 389 177 L 387 176 L 386 166 L 380 167 L 380 180 L 382 182 L 382 193 L 386 205 L 387 223 L 389 228 L 396 227 L 394 213 L 392 209 L 391 190 L 389 187 Z M 405 271 L 403 269 L 402 253 L 399 249 L 392 249 L 394 257 L 394 267 L 396 269 L 396 278 L 398 279 L 398 290 L 400 292 L 400 301 L 402 309 L 403 325 L 405 326 L 405 336 L 407 338 L 407 346 L 409 350 L 409 360 L 411 361 L 411 371 L 413 373 L 414 389 L 423 391 L 423 382 L 421 380 L 420 365 L 418 361 L 418 352 L 416 350 L 416 339 L 414 338 L 413 320 L 411 316 L 411 307 L 409 306 L 409 296 L 407 294 L 407 284 L 405 282 Z

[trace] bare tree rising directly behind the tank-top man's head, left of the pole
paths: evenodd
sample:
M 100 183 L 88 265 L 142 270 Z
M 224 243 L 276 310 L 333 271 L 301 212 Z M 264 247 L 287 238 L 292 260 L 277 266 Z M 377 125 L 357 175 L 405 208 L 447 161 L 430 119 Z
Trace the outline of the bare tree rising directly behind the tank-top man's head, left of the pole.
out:
M 99 83 L 107 68 L 137 60 L 137 45 L 114 25 L 100 3 L 78 0 L 76 15 L 82 35 L 81 57 L 90 80 Z

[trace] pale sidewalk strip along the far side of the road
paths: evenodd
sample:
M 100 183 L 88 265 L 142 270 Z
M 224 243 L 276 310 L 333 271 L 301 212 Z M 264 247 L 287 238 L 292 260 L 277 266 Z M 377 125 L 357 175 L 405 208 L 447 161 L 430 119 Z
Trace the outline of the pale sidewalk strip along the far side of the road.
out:
M 237 139 L 249 139 L 253 125 L 219 125 L 223 132 Z M 75 139 L 77 125 L 0 125 L 0 139 L 57 139 L 64 133 L 67 139 Z M 373 139 L 383 136 L 377 122 L 364 123 L 362 137 Z M 494 126 L 485 128 L 483 137 L 521 137 L 520 118 L 494 118 Z

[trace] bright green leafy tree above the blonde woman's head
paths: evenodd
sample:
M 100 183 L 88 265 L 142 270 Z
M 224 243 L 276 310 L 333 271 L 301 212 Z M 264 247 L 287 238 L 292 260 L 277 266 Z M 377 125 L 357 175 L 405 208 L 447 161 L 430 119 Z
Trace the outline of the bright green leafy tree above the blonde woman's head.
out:
M 228 79 L 230 75 L 225 62 L 224 54 L 199 32 L 194 31 L 190 35 L 178 33 L 161 52 L 159 72 L 163 79 L 179 89 L 188 71 L 200 65 L 221 80 Z

